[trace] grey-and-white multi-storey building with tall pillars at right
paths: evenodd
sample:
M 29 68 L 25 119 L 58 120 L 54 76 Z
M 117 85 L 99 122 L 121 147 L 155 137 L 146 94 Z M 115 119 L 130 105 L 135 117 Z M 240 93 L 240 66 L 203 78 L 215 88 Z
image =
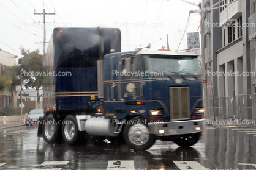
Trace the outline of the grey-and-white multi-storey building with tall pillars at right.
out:
M 255 0 L 203 0 L 209 116 L 256 119 Z M 252 23 L 252 24 L 249 24 Z

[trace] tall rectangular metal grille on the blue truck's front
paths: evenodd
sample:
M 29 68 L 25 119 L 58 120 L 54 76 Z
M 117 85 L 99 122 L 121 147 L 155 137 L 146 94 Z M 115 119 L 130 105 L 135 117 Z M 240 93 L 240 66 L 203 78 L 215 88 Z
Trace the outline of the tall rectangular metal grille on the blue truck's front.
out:
M 170 87 L 170 120 L 190 119 L 189 87 Z

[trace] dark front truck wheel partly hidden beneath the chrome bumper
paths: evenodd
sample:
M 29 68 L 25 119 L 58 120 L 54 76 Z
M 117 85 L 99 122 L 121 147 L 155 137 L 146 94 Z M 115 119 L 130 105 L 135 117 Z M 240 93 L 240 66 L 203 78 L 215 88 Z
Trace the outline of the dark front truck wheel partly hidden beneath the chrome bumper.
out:
M 181 135 L 179 138 L 173 140 L 174 143 L 181 147 L 189 147 L 198 142 L 201 137 L 201 132 Z

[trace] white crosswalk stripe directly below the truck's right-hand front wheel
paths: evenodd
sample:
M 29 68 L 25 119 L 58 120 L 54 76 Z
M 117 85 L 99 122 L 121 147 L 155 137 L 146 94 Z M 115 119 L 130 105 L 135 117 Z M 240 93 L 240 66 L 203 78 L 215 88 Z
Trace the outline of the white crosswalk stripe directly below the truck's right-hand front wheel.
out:
M 203 167 L 197 161 L 173 161 L 176 166 L 178 166 L 181 170 L 188 170 L 188 169 L 195 169 L 195 170 L 205 170 L 206 168 Z

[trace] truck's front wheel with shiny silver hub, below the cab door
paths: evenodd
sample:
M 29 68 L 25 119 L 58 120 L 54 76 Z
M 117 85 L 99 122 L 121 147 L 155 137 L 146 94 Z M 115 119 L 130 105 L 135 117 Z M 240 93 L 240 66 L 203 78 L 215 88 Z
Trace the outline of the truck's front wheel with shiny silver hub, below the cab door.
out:
M 150 134 L 146 120 L 143 118 L 131 119 L 131 124 L 124 126 L 124 141 L 135 150 L 146 150 L 156 141 L 156 135 Z

